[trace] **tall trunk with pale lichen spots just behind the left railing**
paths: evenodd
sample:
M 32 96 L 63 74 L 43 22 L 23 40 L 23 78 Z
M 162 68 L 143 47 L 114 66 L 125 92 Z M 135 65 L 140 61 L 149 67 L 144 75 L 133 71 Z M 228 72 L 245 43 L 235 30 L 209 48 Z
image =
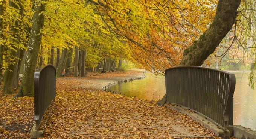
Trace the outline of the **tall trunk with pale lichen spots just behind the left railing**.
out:
M 37 57 L 40 50 L 42 34 L 40 30 L 44 24 L 45 0 L 35 1 L 34 15 L 32 18 L 31 34 L 27 45 L 27 52 L 24 59 L 24 72 L 21 82 L 21 89 L 18 96 L 34 95 L 34 72 L 37 67 Z

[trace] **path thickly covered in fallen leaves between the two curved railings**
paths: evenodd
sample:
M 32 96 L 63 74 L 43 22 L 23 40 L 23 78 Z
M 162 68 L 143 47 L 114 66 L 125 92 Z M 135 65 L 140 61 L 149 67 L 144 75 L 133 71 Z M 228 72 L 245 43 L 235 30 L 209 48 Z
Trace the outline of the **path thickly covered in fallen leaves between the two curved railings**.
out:
M 66 82 L 67 79 L 73 81 Z M 72 77 L 66 80 L 58 79 L 56 107 L 46 127 L 46 138 L 213 136 L 187 115 L 157 106 L 153 101 L 88 86 L 76 87 L 88 83 L 86 80 L 75 82 Z

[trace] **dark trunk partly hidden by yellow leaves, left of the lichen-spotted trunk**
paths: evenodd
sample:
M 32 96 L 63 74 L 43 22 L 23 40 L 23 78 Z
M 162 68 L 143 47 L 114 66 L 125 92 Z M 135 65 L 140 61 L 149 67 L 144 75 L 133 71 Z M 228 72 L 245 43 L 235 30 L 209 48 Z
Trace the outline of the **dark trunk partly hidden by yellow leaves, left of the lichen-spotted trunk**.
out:
M 17 3 L 12 2 L 9 0 L 9 6 L 20 10 L 20 14 L 23 14 L 23 8 L 21 6 L 17 5 Z M 19 9 L 20 7 L 20 9 Z M 20 57 L 20 48 L 16 48 L 15 45 L 17 45 L 19 42 L 19 36 L 18 34 L 18 27 L 19 27 L 19 22 L 18 20 L 15 21 L 14 24 L 10 24 L 10 34 L 11 38 L 9 39 L 10 41 L 10 48 L 8 51 L 11 52 L 10 57 L 14 60 L 10 60 L 8 67 L 6 68 L 5 74 L 4 74 L 4 84 L 3 84 L 3 94 L 13 94 L 14 89 L 17 88 L 18 83 L 17 83 L 17 71 L 18 71 L 18 58 Z M 15 50 L 13 50 L 15 49 Z

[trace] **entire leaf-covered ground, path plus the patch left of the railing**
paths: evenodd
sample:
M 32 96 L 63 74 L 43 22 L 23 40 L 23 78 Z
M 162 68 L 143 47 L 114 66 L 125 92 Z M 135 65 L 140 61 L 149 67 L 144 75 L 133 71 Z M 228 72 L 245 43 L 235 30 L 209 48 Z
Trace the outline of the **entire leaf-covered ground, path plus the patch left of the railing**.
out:
M 189 116 L 155 101 L 102 90 L 106 83 L 141 77 L 141 71 L 88 73 L 61 77 L 44 138 L 215 137 Z M 34 124 L 33 97 L 0 95 L 0 138 L 29 138 Z

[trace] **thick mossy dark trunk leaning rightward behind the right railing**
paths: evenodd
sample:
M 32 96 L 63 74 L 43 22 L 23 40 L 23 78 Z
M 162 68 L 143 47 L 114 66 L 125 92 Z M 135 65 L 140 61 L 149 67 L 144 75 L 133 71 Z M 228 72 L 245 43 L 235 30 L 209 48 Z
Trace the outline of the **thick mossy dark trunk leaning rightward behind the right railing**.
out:
M 197 41 L 184 50 L 180 66 L 201 66 L 203 64 L 232 29 L 240 2 L 241 0 L 219 0 L 212 24 Z

